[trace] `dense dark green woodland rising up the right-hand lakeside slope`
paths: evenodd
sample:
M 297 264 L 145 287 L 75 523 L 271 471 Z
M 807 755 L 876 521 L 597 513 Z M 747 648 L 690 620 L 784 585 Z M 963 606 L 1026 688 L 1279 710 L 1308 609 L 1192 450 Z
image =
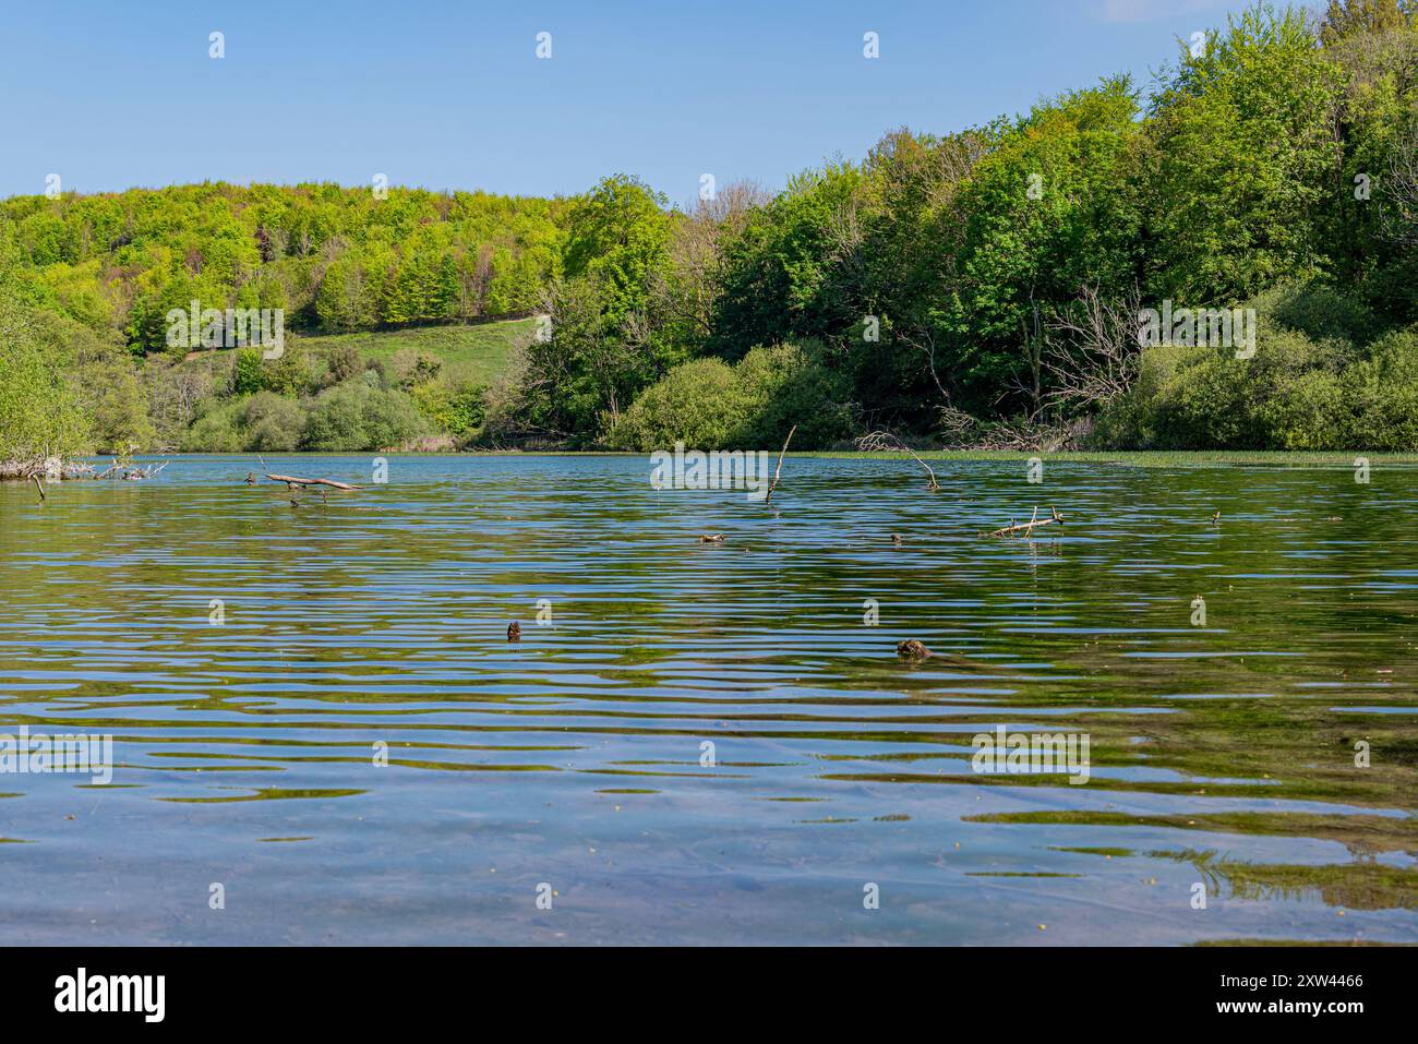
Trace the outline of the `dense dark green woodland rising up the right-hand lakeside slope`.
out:
M 771 444 L 713 360 L 813 342 L 856 431 L 1056 447 L 1098 420 L 1112 445 L 1418 447 L 1412 340 L 1381 338 L 1418 319 L 1418 28 L 1397 0 L 1255 6 L 1146 98 L 1109 78 L 984 128 L 893 132 L 769 200 L 662 213 L 630 179 L 590 200 L 571 238 L 593 245 L 499 430 Z M 584 258 L 611 244 L 604 279 Z M 1255 357 L 1140 352 L 1164 302 L 1256 308 Z

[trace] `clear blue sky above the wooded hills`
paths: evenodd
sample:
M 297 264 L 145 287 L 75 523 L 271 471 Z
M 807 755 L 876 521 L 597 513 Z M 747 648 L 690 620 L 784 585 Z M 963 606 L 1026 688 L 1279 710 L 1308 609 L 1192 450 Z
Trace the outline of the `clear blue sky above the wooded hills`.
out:
M 1227 0 L 0 6 L 0 196 L 201 180 L 671 200 L 1140 82 Z M 208 34 L 225 57 L 208 57 Z M 536 58 L 537 33 L 552 58 Z M 875 31 L 881 57 L 862 57 Z

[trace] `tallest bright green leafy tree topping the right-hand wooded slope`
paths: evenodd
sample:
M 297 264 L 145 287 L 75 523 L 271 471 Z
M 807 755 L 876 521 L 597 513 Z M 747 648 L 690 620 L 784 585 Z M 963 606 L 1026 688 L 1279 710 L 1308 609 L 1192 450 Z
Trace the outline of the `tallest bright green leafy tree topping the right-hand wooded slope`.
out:
M 1255 6 L 1183 48 L 1149 123 L 1151 298 L 1229 305 L 1333 268 L 1339 89 L 1302 11 Z

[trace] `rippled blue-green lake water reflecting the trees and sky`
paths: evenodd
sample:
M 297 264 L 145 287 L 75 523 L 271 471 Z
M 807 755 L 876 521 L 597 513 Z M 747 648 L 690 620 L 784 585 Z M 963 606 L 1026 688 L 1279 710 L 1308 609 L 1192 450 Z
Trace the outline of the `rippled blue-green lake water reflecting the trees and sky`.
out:
M 1418 942 L 1418 471 L 933 465 L 0 487 L 0 732 L 113 738 L 0 774 L 6 940 Z

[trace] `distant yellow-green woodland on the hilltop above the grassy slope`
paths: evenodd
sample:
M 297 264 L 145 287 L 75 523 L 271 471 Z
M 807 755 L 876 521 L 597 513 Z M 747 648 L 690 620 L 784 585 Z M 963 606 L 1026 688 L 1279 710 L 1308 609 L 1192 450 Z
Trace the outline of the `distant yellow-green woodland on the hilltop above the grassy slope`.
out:
M 0 201 L 0 258 L 31 304 L 135 350 L 166 315 L 282 308 L 330 332 L 529 312 L 556 277 L 566 203 L 486 193 L 208 183 Z

